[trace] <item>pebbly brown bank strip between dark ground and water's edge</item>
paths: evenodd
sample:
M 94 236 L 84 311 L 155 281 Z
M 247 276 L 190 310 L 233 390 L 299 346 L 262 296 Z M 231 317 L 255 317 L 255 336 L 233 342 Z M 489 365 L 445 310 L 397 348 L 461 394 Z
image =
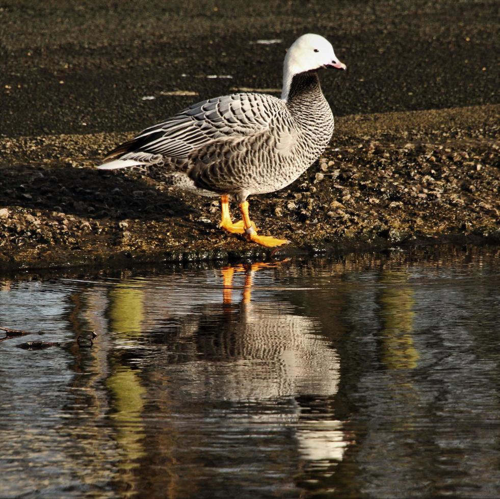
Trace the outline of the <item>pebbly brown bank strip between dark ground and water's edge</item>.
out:
M 500 105 L 483 105 L 336 119 L 317 164 L 250 199 L 261 233 L 292 241 L 274 252 L 222 232 L 218 201 L 95 170 L 133 133 L 6 138 L 0 268 L 500 244 L 499 114 Z

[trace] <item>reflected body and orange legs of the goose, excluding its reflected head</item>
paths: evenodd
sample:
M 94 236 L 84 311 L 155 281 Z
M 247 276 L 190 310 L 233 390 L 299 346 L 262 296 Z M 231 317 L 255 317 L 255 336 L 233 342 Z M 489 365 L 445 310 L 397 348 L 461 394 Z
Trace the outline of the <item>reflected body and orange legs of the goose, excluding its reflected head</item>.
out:
M 183 321 L 180 336 L 189 336 L 197 354 L 206 361 L 230 363 L 220 374 L 214 362 L 190 364 L 193 387 L 212 380 L 217 394 L 227 400 L 263 400 L 300 394 L 332 395 L 338 385 L 338 356 L 330 344 L 314 334 L 313 319 L 293 313 L 283 301 L 252 301 L 255 272 L 273 264 L 222 269 L 222 307 L 202 307 L 196 328 L 192 318 Z M 275 266 L 275 265 L 274 265 Z M 239 307 L 233 305 L 235 274 L 244 273 Z M 328 375 L 325 375 L 328 373 Z

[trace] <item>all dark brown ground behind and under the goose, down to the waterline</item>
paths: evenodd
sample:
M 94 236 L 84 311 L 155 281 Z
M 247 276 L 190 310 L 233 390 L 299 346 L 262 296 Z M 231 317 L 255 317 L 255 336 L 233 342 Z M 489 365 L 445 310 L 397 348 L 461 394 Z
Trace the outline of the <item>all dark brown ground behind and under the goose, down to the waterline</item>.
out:
M 500 244 L 497 2 L 68 4 L 0 4 L 2 268 Z M 260 233 L 292 244 L 247 243 L 218 229 L 217 202 L 95 170 L 194 101 L 277 95 L 306 32 L 348 66 L 320 75 L 330 148 L 250 199 Z

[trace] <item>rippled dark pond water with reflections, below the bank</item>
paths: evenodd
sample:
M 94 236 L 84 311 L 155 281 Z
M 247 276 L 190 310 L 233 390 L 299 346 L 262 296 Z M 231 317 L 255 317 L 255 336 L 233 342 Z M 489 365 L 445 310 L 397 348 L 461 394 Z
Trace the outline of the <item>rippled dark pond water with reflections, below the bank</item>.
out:
M 499 255 L 0 280 L 0 496 L 498 496 Z

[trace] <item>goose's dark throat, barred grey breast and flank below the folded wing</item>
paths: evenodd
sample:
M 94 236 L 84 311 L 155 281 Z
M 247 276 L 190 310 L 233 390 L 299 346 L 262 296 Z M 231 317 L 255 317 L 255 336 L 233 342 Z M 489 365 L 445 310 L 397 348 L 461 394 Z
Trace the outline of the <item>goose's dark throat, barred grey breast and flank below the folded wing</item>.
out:
M 188 175 L 195 185 L 228 193 L 241 202 L 251 194 L 281 189 L 299 177 L 328 145 L 333 116 L 316 72 L 297 75 L 291 89 L 296 87 L 297 93 L 286 103 L 266 96 L 273 113 L 260 113 L 267 119 L 264 128 L 193 151 Z M 258 103 L 265 101 L 262 97 L 255 95 Z

